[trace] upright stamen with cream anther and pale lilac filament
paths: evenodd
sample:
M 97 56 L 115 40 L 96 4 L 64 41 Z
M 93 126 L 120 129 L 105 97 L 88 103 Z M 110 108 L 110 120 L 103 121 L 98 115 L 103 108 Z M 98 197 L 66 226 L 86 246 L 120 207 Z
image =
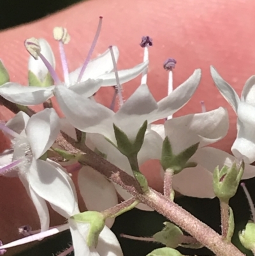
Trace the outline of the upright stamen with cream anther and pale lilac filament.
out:
M 68 62 L 66 59 L 66 53 L 64 52 L 64 44 L 68 44 L 70 41 L 68 30 L 64 27 L 54 27 L 53 36 L 55 40 L 59 41 L 59 52 L 61 56 L 62 70 L 64 73 L 64 82 L 65 84 L 69 84 Z

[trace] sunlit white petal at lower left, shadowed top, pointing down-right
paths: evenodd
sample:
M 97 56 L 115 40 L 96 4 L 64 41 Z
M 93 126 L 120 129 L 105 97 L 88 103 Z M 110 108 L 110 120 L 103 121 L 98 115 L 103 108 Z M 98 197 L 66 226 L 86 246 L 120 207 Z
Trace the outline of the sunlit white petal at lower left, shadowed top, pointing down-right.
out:
M 77 209 L 76 197 L 68 174 L 43 160 L 33 160 L 28 172 L 29 183 L 43 199 L 62 211 L 65 218 L 72 216 Z

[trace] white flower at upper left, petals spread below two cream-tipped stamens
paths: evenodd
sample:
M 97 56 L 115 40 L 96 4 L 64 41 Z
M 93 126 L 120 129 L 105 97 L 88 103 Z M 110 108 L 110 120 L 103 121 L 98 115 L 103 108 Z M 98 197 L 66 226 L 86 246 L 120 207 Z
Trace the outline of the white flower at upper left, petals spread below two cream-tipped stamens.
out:
M 44 52 L 45 56 L 48 58 L 48 72 L 50 72 L 52 78 L 55 80 L 56 86 L 22 86 L 16 82 L 8 82 L 0 87 L 0 95 L 6 98 L 6 100 L 25 106 L 38 105 L 54 96 L 54 90 L 57 87 L 67 87 L 72 92 L 80 94 L 82 98 L 89 98 L 96 93 L 101 86 L 115 86 L 116 79 L 115 73 L 112 72 L 113 63 L 109 49 L 96 57 L 96 59 L 89 61 L 82 75 L 82 79 L 79 82 L 77 79 L 82 67 L 69 73 L 68 81 L 65 80 L 65 82 L 62 83 L 54 71 L 55 59 L 50 45 L 45 40 L 40 40 L 40 43 L 41 52 Z M 117 60 L 119 50 L 115 46 L 112 47 L 112 50 Z M 148 64 L 149 61 L 145 61 L 128 70 L 120 70 L 118 72 L 120 84 L 128 82 L 140 75 L 143 70 L 147 69 Z M 33 57 L 29 59 L 29 70 L 34 72 L 40 79 L 43 79 L 47 74 L 45 63 L 43 63 L 41 59 L 34 60 Z

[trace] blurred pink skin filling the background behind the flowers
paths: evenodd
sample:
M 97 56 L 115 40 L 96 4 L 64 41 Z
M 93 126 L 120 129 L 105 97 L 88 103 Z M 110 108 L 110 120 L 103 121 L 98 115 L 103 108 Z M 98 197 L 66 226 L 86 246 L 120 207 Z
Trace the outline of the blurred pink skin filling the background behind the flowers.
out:
M 87 56 L 96 33 L 98 17 L 101 15 L 103 27 L 93 56 L 104 52 L 109 45 L 117 45 L 120 50 L 119 69 L 129 68 L 142 62 L 143 49 L 139 46 L 141 37 L 149 35 L 153 39 L 154 45 L 149 49 L 148 85 L 156 100 L 160 100 L 167 93 L 168 72 L 163 69 L 163 63 L 168 57 L 174 57 L 177 60 L 177 66 L 173 71 L 174 87 L 184 82 L 194 69 L 202 69 L 202 80 L 198 90 L 191 101 L 175 116 L 201 112 L 201 100 L 205 102 L 207 110 L 220 106 L 226 107 L 230 115 L 230 131 L 226 138 L 215 144 L 215 147 L 230 152 L 236 136 L 236 116 L 214 86 L 209 66 L 214 65 L 240 95 L 245 81 L 255 73 L 253 11 L 255 2 L 253 0 L 88 0 L 74 4 L 75 2 L 78 1 L 8 0 L 1 2 L 0 28 L 3 31 L 0 34 L 0 58 L 8 68 L 11 81 L 27 84 L 29 54 L 24 48 L 24 40 L 32 36 L 49 41 L 56 57 L 56 70 L 59 74 L 62 73 L 58 45 L 52 38 L 52 29 L 55 26 L 66 27 L 69 31 L 71 41 L 65 50 L 69 70 L 75 70 Z M 58 11 L 66 6 L 69 7 Z M 57 12 L 52 13 L 53 11 Z M 31 22 L 41 17 L 44 18 Z M 22 24 L 23 22 L 31 23 Z M 13 27 L 17 25 L 19 26 Z M 7 29 L 7 27 L 11 28 Z M 127 99 L 139 83 L 140 78 L 124 84 L 124 98 Z M 96 100 L 109 106 L 112 95 L 113 88 L 103 88 L 96 94 Z M 0 106 L 0 119 L 7 121 L 11 117 L 13 114 Z M 8 147 L 8 140 L 1 133 L 0 151 L 6 147 Z M 143 166 L 143 171 L 150 185 L 160 190 L 162 181 L 158 177 L 156 167 L 152 169 L 149 165 Z M 249 191 L 252 193 L 254 183 L 249 181 L 248 186 L 249 183 L 251 183 Z M 19 237 L 18 230 L 13 230 L 13 227 L 18 228 L 29 223 L 33 229 L 37 229 L 38 217 L 18 179 L 0 177 L 0 184 L 2 195 L 0 197 L 0 239 L 8 243 Z M 239 220 L 240 227 L 243 227 L 250 213 L 248 208 L 244 210 L 247 203 L 242 191 L 239 195 L 240 197 L 233 200 L 233 207 L 234 212 L 240 213 L 236 220 Z M 178 199 L 178 203 L 207 223 L 216 216 L 210 225 L 219 230 L 217 200 L 182 197 Z M 155 213 L 142 213 L 138 216 L 138 212 L 140 213 L 135 210 L 120 216 L 113 230 L 119 233 L 129 232 L 129 234 L 137 231 L 133 235 L 151 236 L 161 228 L 163 218 Z M 140 223 L 139 226 L 136 225 L 132 230 L 126 229 L 121 222 L 125 216 L 126 223 L 129 220 L 129 223 Z M 155 227 L 152 227 L 151 218 L 155 220 Z M 51 221 L 52 225 L 62 223 L 59 216 L 54 214 Z M 134 226 L 132 224 L 132 227 Z M 120 242 L 123 243 L 125 255 L 132 255 L 132 251 L 129 254 L 128 248 L 132 250 L 139 248 L 139 253 L 136 255 L 145 255 L 150 252 L 149 246 L 144 246 L 143 243 L 140 246 L 141 242 L 123 239 Z M 55 250 L 57 252 L 57 249 Z M 14 251 L 10 250 L 9 253 L 13 255 Z M 43 253 L 46 252 L 43 251 Z M 196 254 L 204 255 L 205 252 L 201 251 L 201 254 L 196 252 Z M 25 252 L 24 255 L 29 254 Z M 31 255 L 40 254 L 36 251 L 36 254 Z M 52 252 L 43 255 L 52 255 Z

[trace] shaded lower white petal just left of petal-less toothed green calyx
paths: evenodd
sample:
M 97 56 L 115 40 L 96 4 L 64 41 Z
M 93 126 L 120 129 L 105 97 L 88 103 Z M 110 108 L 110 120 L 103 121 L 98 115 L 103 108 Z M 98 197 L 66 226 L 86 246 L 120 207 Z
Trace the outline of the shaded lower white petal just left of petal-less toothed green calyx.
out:
M 201 165 L 186 168 L 173 176 L 173 189 L 189 197 L 214 198 L 212 173 Z

